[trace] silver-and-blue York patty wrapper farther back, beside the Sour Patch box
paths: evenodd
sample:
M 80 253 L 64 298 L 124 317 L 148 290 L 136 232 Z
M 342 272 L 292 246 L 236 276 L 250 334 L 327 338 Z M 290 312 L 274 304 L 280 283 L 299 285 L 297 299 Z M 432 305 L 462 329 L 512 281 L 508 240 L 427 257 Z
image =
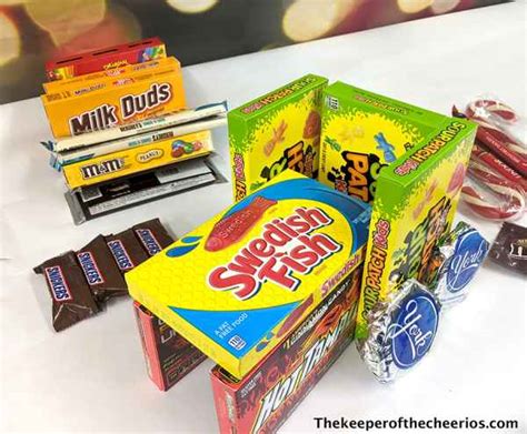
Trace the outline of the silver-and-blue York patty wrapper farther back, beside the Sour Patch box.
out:
M 424 282 L 436 294 L 444 307 L 464 301 L 469 283 L 485 261 L 489 243 L 468 223 L 459 222 L 432 254 L 428 279 Z

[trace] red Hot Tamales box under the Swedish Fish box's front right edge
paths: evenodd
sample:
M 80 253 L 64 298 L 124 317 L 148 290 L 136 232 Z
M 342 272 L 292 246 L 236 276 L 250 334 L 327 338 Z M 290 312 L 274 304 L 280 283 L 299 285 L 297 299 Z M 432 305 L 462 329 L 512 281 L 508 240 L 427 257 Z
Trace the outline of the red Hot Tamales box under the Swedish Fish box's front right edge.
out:
M 360 269 L 241 381 L 211 371 L 220 433 L 275 433 L 354 337 Z

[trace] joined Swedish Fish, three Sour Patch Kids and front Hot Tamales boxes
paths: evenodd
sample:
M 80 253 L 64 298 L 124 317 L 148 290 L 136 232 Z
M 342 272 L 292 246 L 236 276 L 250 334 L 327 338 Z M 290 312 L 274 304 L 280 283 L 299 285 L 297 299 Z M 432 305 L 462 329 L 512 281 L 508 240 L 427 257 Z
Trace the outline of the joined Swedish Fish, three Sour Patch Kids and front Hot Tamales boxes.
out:
M 431 272 L 476 127 L 314 74 L 228 123 L 235 204 L 127 282 L 218 363 L 220 431 L 267 433 L 374 305 Z

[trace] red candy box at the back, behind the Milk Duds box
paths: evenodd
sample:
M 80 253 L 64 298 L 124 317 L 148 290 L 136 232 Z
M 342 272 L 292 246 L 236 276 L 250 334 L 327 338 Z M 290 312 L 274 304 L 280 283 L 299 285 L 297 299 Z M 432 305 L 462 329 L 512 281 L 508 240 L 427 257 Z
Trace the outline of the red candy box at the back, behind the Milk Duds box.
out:
M 46 63 L 46 74 L 49 81 L 64 80 L 166 55 L 165 43 L 159 38 L 150 38 L 50 60 Z

